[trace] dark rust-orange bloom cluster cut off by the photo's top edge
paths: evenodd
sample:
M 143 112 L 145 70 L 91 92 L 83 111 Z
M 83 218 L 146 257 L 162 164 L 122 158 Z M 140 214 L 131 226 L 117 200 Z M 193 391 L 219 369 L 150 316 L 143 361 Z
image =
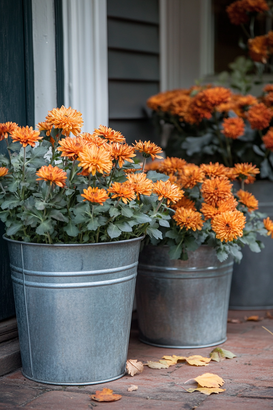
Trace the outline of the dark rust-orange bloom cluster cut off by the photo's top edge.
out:
M 247 13 L 260 13 L 269 10 L 265 0 L 237 0 L 231 3 L 226 11 L 230 18 L 230 23 L 240 25 L 248 22 Z

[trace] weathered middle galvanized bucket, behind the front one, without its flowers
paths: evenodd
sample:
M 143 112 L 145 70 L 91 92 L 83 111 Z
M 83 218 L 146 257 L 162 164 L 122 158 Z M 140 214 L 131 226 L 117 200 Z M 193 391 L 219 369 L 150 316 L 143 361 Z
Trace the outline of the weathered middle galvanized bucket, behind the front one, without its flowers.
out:
M 168 246 L 140 253 L 136 284 L 140 340 L 159 347 L 197 348 L 226 341 L 233 260 L 219 262 L 201 246 L 170 260 Z

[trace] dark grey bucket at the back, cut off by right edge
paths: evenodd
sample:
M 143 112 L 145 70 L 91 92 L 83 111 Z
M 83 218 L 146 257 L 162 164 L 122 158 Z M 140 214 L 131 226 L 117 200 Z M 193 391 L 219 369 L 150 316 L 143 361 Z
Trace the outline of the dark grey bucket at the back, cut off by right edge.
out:
M 259 200 L 259 211 L 273 219 L 273 182 L 256 181 L 246 190 Z M 230 309 L 273 309 L 273 239 L 259 237 L 265 248 L 260 253 L 242 249 L 243 259 L 235 263 L 230 291 Z

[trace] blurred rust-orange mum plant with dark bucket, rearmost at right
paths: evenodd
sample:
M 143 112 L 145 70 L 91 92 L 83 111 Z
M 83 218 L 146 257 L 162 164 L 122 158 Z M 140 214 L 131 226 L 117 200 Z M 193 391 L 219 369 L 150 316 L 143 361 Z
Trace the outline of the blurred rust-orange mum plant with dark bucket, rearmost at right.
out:
M 148 105 L 157 121 L 163 119 L 173 127 L 167 155 L 181 156 L 196 164 L 217 161 L 231 167 L 241 163 L 236 165 L 237 181 L 243 189 L 248 185 L 248 191 L 260 202 L 260 210 L 272 217 L 272 94 L 272 84 L 264 87 L 259 98 L 205 85 L 157 94 L 148 100 Z M 252 164 L 257 164 L 260 172 Z M 230 308 L 273 307 L 270 239 L 264 243 L 262 252 L 259 247 L 253 248 L 259 255 L 248 248 L 242 250 L 244 259 L 240 266 L 234 266 Z

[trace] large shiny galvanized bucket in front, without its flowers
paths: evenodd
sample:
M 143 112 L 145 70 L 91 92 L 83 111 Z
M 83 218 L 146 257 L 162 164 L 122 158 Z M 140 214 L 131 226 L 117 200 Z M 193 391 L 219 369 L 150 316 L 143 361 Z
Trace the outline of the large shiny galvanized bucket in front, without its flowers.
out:
M 124 375 L 140 241 L 9 245 L 22 373 L 88 385 Z

